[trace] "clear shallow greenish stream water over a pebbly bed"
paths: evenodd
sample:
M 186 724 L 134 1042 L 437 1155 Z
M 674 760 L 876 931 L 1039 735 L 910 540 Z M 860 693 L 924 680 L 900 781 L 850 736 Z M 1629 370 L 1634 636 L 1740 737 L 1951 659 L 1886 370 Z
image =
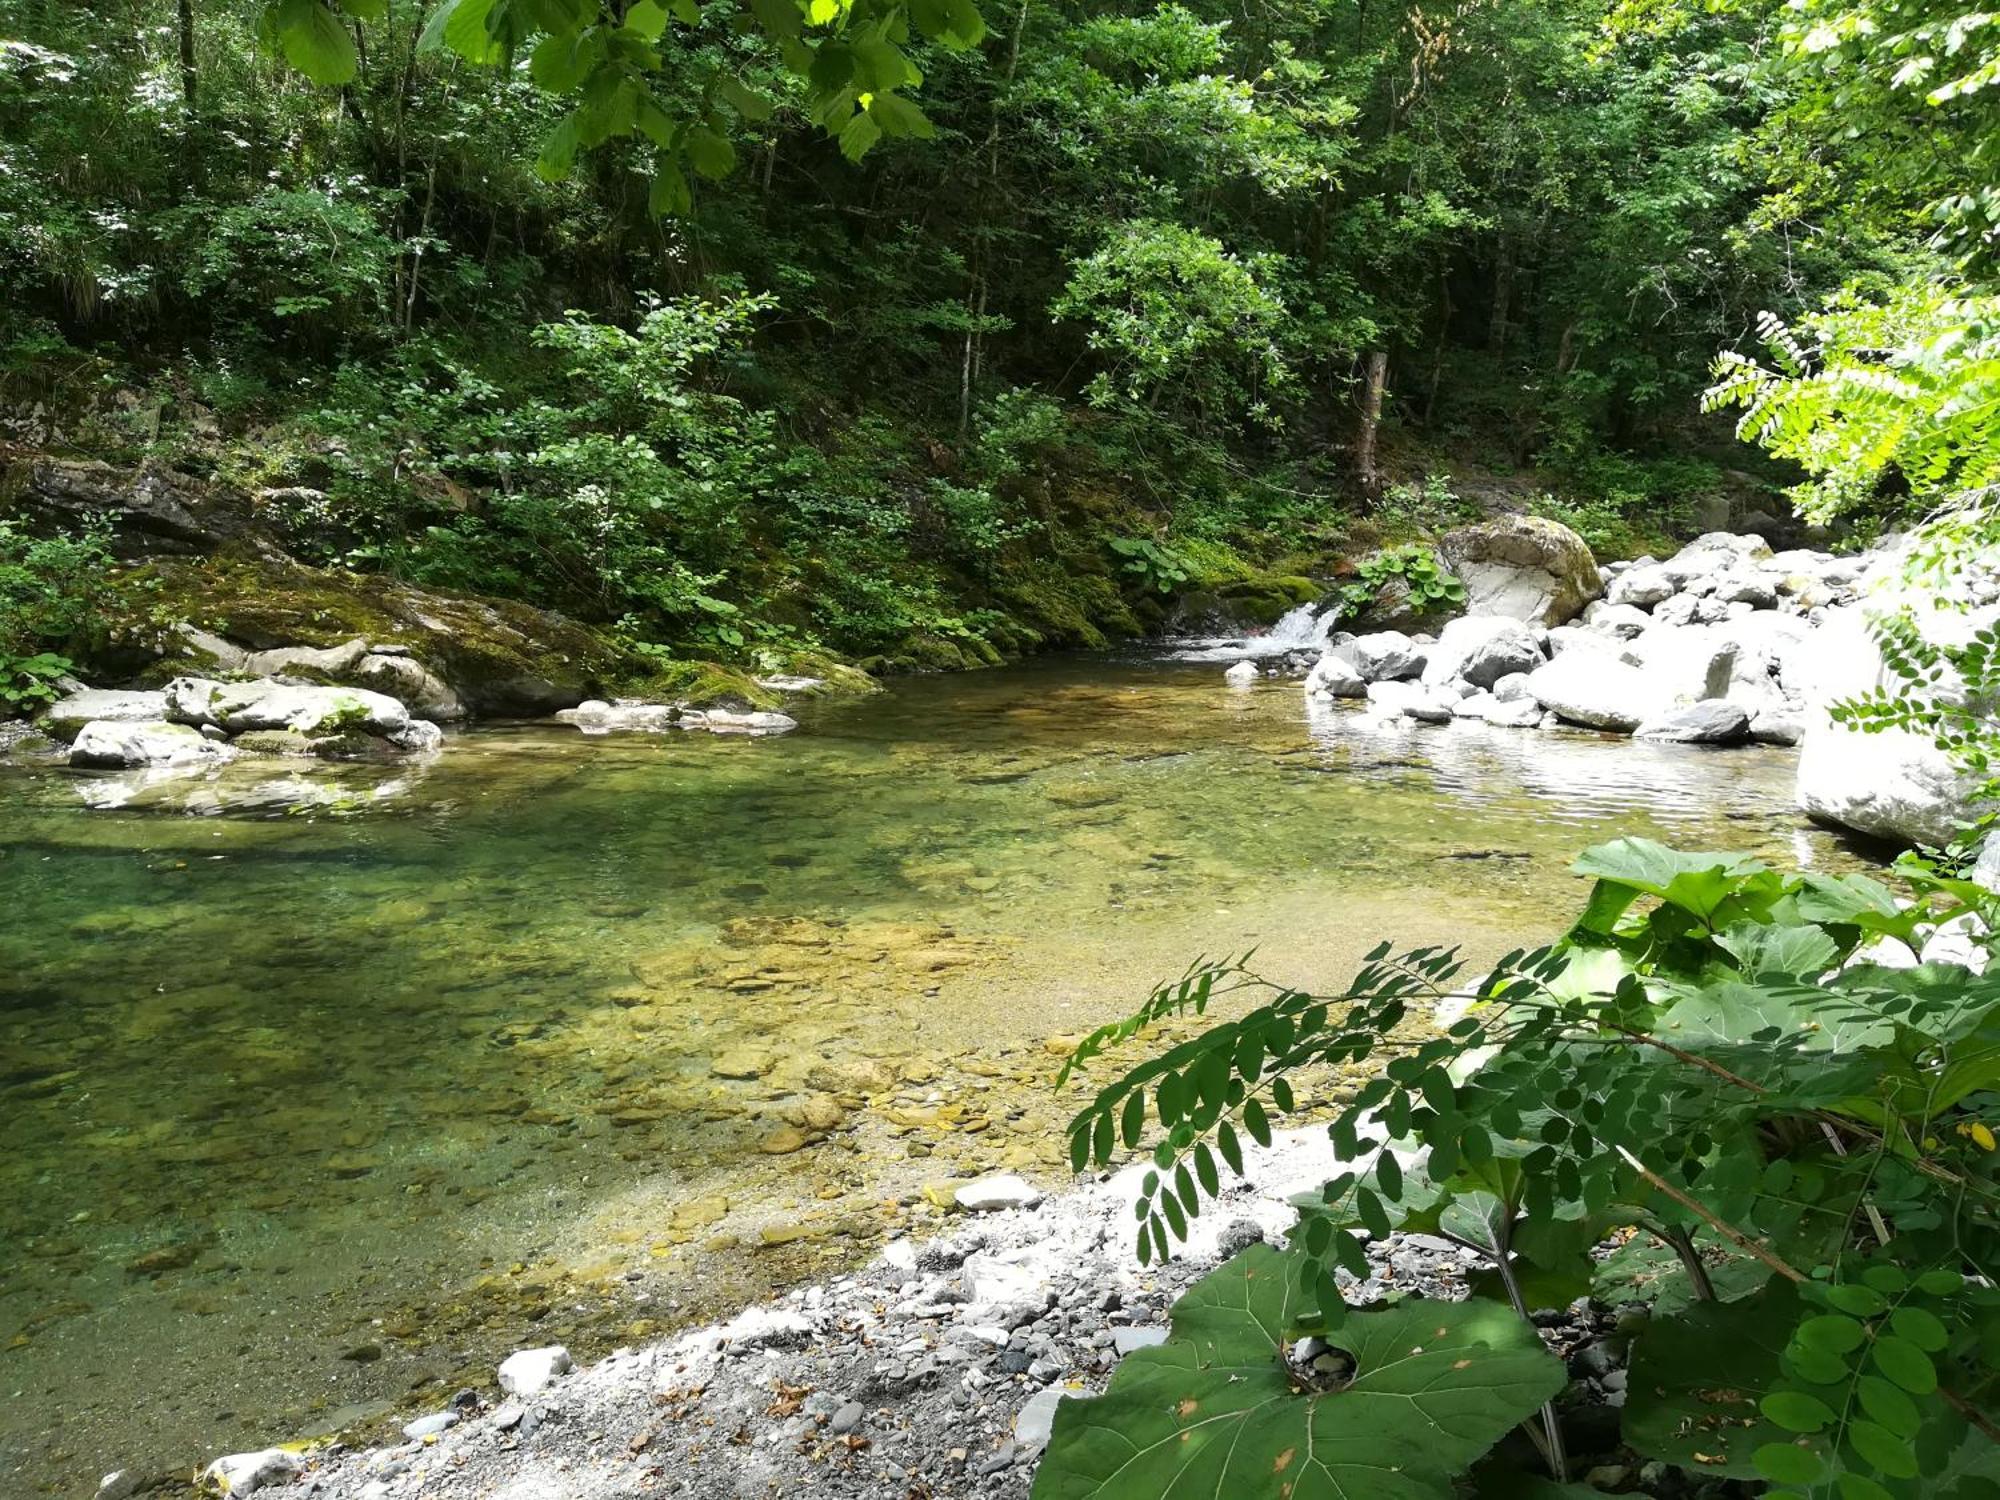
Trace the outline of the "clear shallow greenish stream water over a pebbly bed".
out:
M 1550 934 L 1588 842 L 1840 862 L 1786 752 L 1062 662 L 782 740 L 494 728 L 344 810 L 0 772 L 0 1492 L 88 1494 L 716 1312 L 1044 1172 L 1050 1038 L 1200 952 Z

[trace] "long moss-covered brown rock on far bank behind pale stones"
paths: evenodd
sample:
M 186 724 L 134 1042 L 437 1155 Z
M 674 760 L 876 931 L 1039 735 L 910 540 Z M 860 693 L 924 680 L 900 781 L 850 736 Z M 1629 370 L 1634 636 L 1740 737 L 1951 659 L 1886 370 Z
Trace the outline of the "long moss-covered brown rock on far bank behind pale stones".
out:
M 120 576 L 128 614 L 114 634 L 158 636 L 188 622 L 250 650 L 408 646 L 474 714 L 538 716 L 570 708 L 620 676 L 624 654 L 588 626 L 514 600 L 418 588 L 396 578 L 288 562 L 158 560 Z M 190 668 L 186 656 L 160 664 Z

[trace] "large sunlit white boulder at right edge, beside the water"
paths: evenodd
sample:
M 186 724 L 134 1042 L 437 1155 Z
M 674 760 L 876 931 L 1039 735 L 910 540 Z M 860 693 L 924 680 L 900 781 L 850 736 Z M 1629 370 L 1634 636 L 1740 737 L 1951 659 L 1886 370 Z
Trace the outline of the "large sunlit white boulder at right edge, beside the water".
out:
M 1926 638 L 1964 642 L 2000 610 L 1940 610 L 1902 590 L 1878 608 L 1910 604 Z M 1832 706 L 1874 688 L 1900 686 L 1868 634 L 1866 608 L 1828 610 L 1802 664 L 1806 712 L 1798 754 L 1798 804 L 1814 818 L 1878 838 L 1944 844 L 1972 812 L 1978 778 L 1962 772 L 1930 736 L 1888 728 L 1864 734 L 1832 720 Z M 1952 684 L 1942 684 L 1952 692 Z

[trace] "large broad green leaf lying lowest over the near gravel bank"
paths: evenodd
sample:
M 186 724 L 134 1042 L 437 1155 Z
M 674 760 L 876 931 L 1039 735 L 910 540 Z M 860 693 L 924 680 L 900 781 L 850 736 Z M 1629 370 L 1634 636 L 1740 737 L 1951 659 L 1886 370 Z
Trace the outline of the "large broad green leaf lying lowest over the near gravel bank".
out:
M 1276 1496 L 1438 1500 L 1564 1384 L 1534 1330 L 1488 1302 L 1410 1300 L 1320 1336 L 1350 1384 L 1292 1388 L 1284 1346 L 1308 1310 L 1300 1256 L 1252 1246 L 1176 1306 L 1110 1390 L 1056 1408 L 1034 1500 Z

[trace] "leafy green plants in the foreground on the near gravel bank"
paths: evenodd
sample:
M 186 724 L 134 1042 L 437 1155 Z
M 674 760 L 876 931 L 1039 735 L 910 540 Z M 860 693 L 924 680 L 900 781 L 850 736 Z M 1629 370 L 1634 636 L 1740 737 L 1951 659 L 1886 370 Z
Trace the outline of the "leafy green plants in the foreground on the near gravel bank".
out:
M 1134 1356 L 1102 1402 L 1060 1408 L 1036 1496 L 1136 1500 L 1174 1480 L 1206 1494 L 1224 1472 L 1244 1500 L 1336 1496 L 1342 1466 L 1376 1462 L 1382 1440 L 1410 1460 L 1370 1494 L 1448 1496 L 1562 1384 L 1524 1354 L 1528 1314 L 1582 1294 L 1652 1302 L 1622 1412 L 1648 1458 L 1784 1496 L 1992 1494 L 2000 978 L 1980 974 L 1988 952 L 1960 918 L 1990 930 L 2000 898 L 1920 862 L 1902 866 L 1898 900 L 1866 876 L 1644 840 L 1576 868 L 1594 886 L 1574 928 L 1456 1002 L 1460 964 L 1440 950 L 1384 944 L 1338 996 L 1202 964 L 1078 1048 L 1084 1064 L 1224 996 L 1262 1000 L 1076 1116 L 1078 1166 L 1158 1140 L 1142 1258 L 1186 1238 L 1276 1116 L 1330 1114 L 1336 1176 L 1300 1202 L 1286 1250 L 1212 1274 L 1162 1350 Z M 1930 954 L 1954 922 L 1960 956 Z M 1446 1002 L 1440 1034 L 1424 1018 Z M 1382 1070 L 1358 1092 L 1330 1072 L 1362 1060 Z M 1342 1288 L 1368 1274 L 1356 1232 L 1398 1228 L 1486 1256 L 1476 1294 L 1512 1314 L 1452 1334 L 1472 1326 L 1452 1304 L 1348 1312 Z M 1218 1326 L 1212 1304 L 1256 1326 Z M 1368 1354 L 1318 1384 L 1286 1362 L 1306 1334 L 1360 1352 L 1384 1318 L 1434 1328 L 1456 1354 L 1418 1372 L 1414 1406 L 1366 1400 Z M 1572 1478 L 1562 1398 L 1546 1406 L 1524 1450 L 1556 1484 Z M 1440 1430 L 1462 1442 L 1436 1446 Z M 1286 1454 L 1310 1460 L 1280 1480 Z

